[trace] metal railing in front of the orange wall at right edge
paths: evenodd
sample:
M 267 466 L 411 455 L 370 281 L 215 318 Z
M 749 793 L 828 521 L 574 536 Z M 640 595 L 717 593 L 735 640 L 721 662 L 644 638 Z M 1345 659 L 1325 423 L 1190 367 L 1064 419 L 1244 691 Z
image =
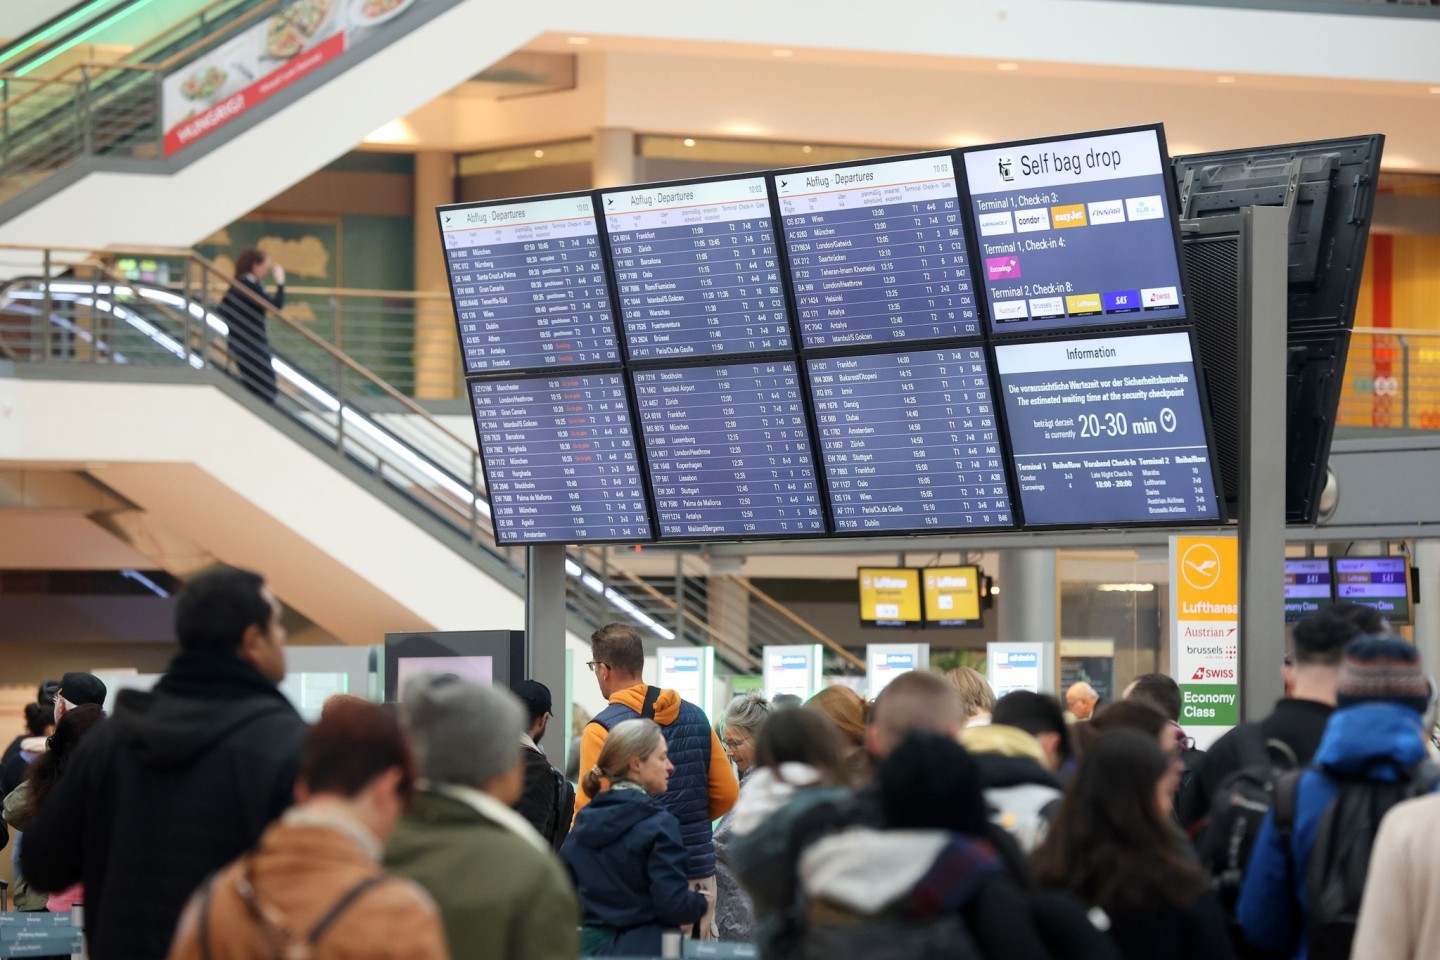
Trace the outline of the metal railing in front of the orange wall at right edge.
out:
M 1356 327 L 1336 426 L 1440 430 L 1440 330 Z

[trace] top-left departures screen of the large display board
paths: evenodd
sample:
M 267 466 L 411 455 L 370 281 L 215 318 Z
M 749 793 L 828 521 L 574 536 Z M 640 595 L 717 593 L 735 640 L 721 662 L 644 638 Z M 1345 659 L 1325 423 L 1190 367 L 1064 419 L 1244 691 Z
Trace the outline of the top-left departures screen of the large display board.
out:
M 619 364 L 590 197 L 438 213 L 465 373 Z

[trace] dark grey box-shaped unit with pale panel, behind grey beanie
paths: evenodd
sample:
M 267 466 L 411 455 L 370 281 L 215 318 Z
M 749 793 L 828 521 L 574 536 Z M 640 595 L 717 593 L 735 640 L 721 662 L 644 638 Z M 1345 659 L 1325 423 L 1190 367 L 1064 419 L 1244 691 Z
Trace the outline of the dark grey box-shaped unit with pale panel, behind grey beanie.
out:
M 399 702 L 405 681 L 419 674 L 454 674 L 514 689 L 526 679 L 526 635 L 523 630 L 386 633 L 386 702 Z

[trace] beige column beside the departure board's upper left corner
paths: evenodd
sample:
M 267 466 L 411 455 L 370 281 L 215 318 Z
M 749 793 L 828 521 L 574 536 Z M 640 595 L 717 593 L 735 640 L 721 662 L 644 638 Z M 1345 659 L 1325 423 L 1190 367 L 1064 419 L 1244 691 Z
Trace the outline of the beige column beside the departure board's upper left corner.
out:
M 425 150 L 415 154 L 415 289 L 445 294 L 445 301 L 416 301 L 415 396 L 420 400 L 462 397 L 459 338 L 448 301 L 445 246 L 435 223 L 435 207 L 455 201 L 455 154 Z

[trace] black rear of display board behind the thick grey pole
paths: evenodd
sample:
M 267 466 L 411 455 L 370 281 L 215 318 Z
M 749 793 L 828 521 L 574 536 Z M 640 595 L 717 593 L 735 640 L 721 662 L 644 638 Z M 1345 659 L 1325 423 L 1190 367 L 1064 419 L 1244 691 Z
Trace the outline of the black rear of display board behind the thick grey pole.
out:
M 1238 212 L 1290 210 L 1286 521 L 1313 524 L 1355 322 L 1385 138 L 1380 134 L 1174 160 L 1191 312 L 1210 379 L 1225 499 L 1238 504 Z

